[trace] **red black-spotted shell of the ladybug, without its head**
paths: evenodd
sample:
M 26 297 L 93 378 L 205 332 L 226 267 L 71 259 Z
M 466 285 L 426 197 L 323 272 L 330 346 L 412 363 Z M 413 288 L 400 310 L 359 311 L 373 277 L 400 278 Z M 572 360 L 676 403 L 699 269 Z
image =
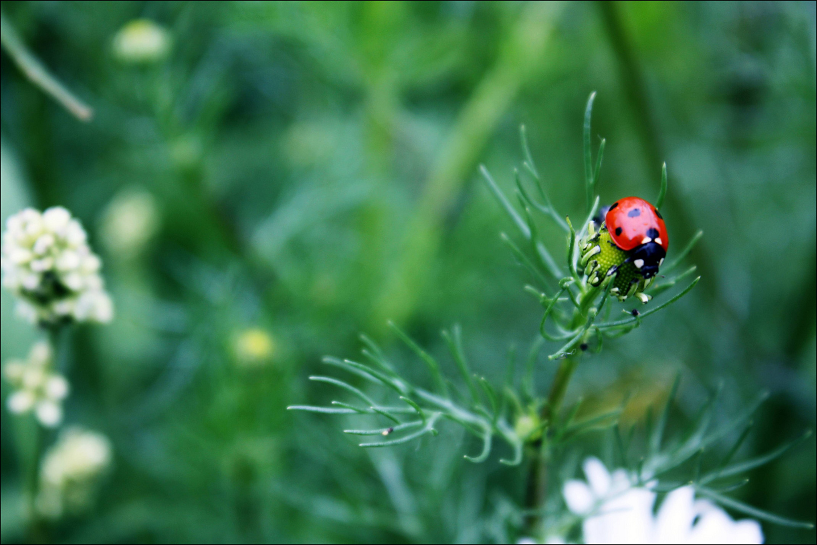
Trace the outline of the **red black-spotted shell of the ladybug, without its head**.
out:
M 652 204 L 638 197 L 624 197 L 613 203 L 605 217 L 610 238 L 624 251 L 648 242 L 669 248 L 667 226 L 660 212 Z

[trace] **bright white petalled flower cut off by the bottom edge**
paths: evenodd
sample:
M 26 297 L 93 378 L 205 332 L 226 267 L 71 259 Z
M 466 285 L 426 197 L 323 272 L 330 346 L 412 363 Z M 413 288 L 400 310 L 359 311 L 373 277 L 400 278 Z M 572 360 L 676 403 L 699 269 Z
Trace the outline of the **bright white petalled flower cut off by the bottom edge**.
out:
M 675 489 L 653 513 L 656 493 L 632 485 L 623 469 L 612 474 L 597 458 L 583 464 L 587 482 L 569 480 L 563 493 L 583 516 L 584 543 L 763 543 L 757 520 L 732 520 L 721 507 L 694 498 L 692 486 Z

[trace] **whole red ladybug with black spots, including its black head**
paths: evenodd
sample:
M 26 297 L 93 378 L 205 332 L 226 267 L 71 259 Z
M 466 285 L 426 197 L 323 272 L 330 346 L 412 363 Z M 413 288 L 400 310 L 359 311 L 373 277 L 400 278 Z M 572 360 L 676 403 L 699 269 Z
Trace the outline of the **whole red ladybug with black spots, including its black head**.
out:
M 605 216 L 613 242 L 629 253 L 630 261 L 644 278 L 658 274 L 667 257 L 667 226 L 658 208 L 638 197 L 625 197 L 613 203 Z

